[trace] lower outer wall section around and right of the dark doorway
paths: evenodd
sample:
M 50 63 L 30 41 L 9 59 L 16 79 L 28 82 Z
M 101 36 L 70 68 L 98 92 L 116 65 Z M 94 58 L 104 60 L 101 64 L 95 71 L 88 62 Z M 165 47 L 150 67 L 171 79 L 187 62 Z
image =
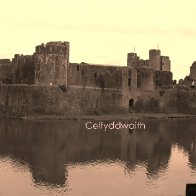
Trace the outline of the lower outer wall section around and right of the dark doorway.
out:
M 196 92 L 185 90 L 138 90 L 123 95 L 122 107 L 129 108 L 133 100 L 133 111 L 136 113 L 191 113 L 196 114 Z

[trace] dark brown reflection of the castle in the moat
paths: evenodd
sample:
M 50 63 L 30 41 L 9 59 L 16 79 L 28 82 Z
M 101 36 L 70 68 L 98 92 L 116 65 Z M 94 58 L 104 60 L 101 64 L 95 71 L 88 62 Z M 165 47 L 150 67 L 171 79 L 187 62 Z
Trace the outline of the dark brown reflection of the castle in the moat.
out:
M 127 170 L 145 163 L 148 175 L 167 169 L 172 145 L 189 155 L 196 169 L 196 131 L 192 120 L 147 122 L 148 131 L 87 131 L 75 122 L 0 120 L 0 156 L 27 163 L 35 182 L 63 185 L 66 164 L 121 160 Z M 189 125 L 187 126 L 187 122 Z M 55 131 L 54 131 L 55 130 Z M 65 131 L 66 130 L 66 131 Z

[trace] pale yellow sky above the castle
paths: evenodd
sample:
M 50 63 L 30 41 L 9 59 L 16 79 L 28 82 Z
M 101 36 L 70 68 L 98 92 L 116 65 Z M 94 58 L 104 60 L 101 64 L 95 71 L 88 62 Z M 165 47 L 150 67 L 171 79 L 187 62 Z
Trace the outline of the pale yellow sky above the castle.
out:
M 127 53 L 169 56 L 174 79 L 196 61 L 195 0 L 0 0 L 0 58 L 70 42 L 70 62 L 126 66 Z

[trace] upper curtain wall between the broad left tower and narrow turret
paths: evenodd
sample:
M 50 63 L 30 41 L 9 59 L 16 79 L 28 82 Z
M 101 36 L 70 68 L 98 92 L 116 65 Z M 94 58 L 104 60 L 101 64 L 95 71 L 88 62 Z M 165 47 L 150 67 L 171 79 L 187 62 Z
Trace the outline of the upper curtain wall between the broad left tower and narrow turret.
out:
M 122 88 L 122 67 L 70 63 L 69 85 L 82 87 Z

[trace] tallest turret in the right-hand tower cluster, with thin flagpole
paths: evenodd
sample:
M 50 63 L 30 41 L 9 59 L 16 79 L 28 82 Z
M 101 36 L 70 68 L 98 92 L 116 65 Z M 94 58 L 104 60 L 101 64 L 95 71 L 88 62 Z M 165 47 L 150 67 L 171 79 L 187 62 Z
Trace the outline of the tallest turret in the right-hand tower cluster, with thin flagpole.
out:
M 150 67 L 152 67 L 154 70 L 161 70 L 160 56 L 161 56 L 160 50 L 156 50 L 156 49 L 149 50 L 149 64 Z

